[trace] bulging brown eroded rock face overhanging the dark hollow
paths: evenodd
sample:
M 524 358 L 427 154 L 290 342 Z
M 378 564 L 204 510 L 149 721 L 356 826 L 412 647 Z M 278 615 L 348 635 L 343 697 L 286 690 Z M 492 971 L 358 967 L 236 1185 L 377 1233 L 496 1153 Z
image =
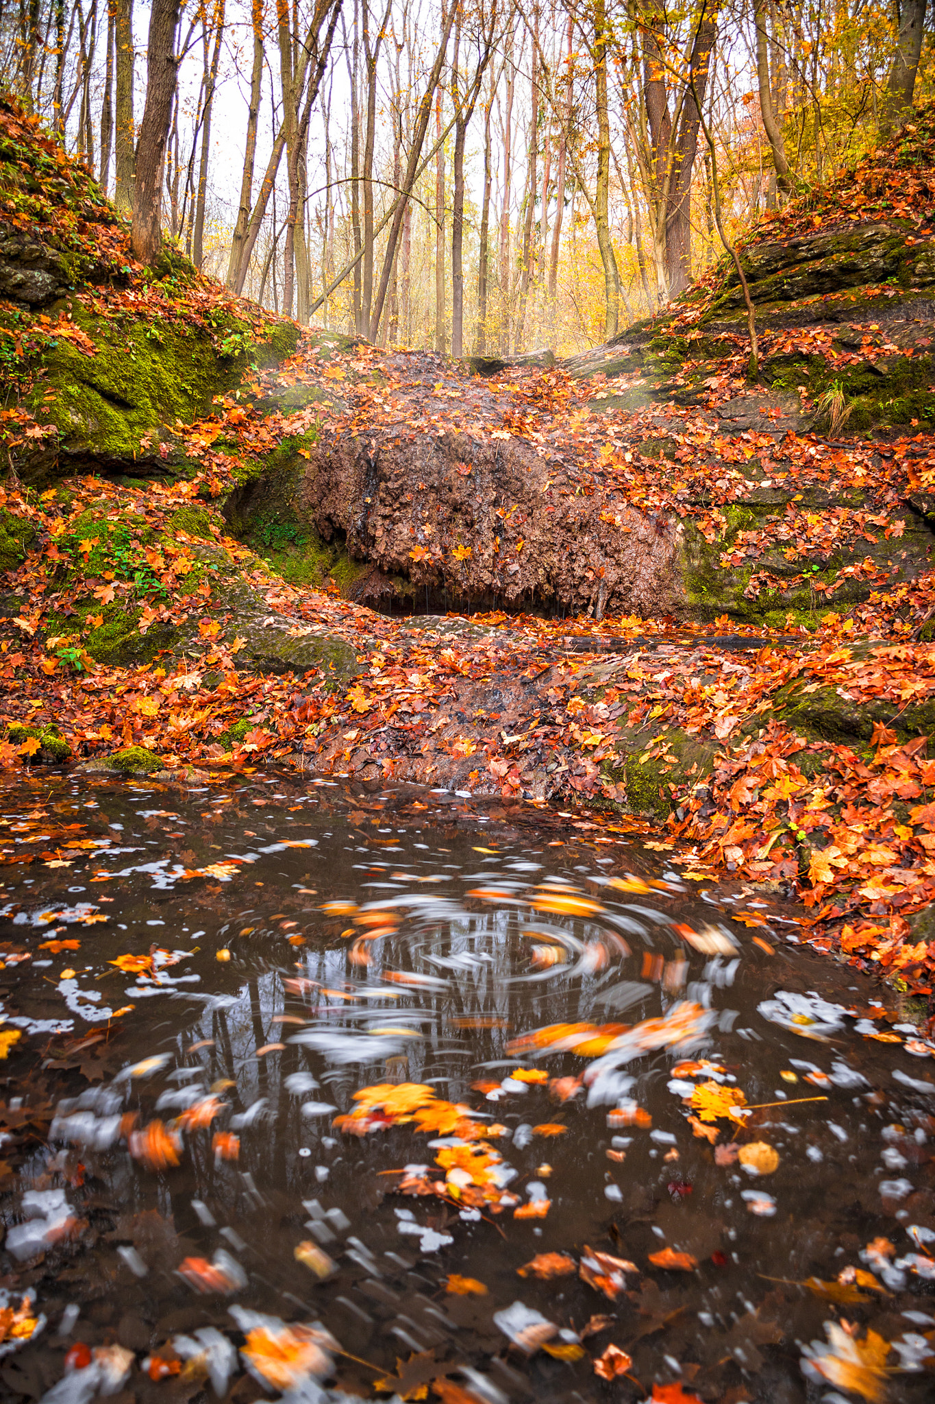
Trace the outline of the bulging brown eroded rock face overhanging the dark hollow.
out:
M 669 614 L 676 524 L 575 486 L 561 458 L 523 439 L 390 431 L 314 451 L 296 508 L 384 574 L 422 576 L 433 595 L 599 618 Z

